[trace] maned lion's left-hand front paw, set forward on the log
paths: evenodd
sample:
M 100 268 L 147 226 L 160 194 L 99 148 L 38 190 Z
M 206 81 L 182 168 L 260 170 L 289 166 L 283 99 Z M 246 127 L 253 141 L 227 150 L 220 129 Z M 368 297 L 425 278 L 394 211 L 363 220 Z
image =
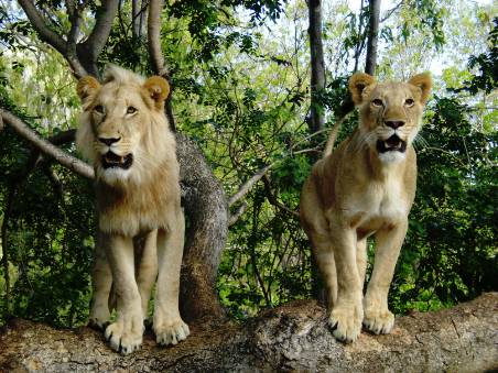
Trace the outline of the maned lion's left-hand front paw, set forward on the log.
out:
M 109 325 L 104 334 L 112 350 L 128 354 L 142 344 L 143 329 L 141 317 L 121 318 Z

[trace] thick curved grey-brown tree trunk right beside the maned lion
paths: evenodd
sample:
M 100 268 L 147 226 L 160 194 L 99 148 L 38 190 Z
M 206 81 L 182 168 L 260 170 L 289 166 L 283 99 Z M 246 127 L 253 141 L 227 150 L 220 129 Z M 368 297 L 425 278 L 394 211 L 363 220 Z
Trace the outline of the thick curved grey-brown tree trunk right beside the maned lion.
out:
M 228 234 L 228 205 L 221 185 L 197 146 L 181 134 L 176 142 L 187 222 L 180 309 L 187 321 L 218 319 L 224 311 L 215 282 Z

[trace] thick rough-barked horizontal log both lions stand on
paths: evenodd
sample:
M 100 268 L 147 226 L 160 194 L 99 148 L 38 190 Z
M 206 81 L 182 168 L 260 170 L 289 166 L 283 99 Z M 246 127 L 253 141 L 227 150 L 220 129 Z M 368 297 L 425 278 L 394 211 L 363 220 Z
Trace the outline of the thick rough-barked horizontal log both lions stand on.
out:
M 498 294 L 397 319 L 391 334 L 337 342 L 325 310 L 300 300 L 240 326 L 192 326 L 186 341 L 121 356 L 88 328 L 56 330 L 25 320 L 0 334 L 0 371 L 126 372 L 484 372 L 498 369 Z

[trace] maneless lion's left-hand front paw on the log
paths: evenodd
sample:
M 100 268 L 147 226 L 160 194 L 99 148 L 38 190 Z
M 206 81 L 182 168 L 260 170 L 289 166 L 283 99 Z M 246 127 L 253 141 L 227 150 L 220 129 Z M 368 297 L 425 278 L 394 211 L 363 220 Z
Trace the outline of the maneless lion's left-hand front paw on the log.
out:
M 346 343 L 356 341 L 361 332 L 362 314 L 360 301 L 334 307 L 328 318 L 334 337 Z

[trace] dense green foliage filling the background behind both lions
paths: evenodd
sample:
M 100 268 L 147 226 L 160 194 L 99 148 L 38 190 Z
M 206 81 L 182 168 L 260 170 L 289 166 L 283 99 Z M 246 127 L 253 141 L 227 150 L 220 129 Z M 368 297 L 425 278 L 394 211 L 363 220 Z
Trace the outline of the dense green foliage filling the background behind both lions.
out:
M 327 127 L 340 114 L 347 77 L 365 57 L 368 8 L 355 12 L 347 3 L 325 9 L 328 85 L 318 103 Z M 42 135 L 56 136 L 76 125 L 78 100 L 69 72 L 36 39 L 19 9 L 2 7 L 8 9 L 0 12 L 1 105 Z M 67 26 L 59 2 L 45 7 L 52 7 L 61 28 Z M 416 143 L 416 200 L 391 290 L 396 312 L 435 309 L 498 289 L 498 21 L 492 24 L 492 7 L 476 6 L 475 15 L 468 15 L 468 7 L 409 1 L 383 14 L 381 78 L 408 78 L 427 69 L 429 55 L 445 48 L 448 54 L 461 51 L 469 62 L 446 64 L 435 76 L 436 91 Z M 143 35 L 132 37 L 126 23 L 129 12 L 124 1 L 100 63 L 150 74 Z M 164 13 L 162 48 L 178 130 L 202 147 L 227 195 L 261 167 L 272 166 L 231 207 L 235 212 L 247 205 L 230 227 L 219 268 L 223 304 L 243 319 L 264 307 L 315 296 L 320 278 L 296 215 L 301 186 L 324 146 L 323 134 L 311 135 L 307 127 L 304 2 L 176 1 Z M 455 36 L 458 22 L 467 31 Z M 351 114 L 340 139 L 355 120 Z M 74 152 L 71 143 L 63 146 Z M 39 160 L 8 127 L 0 131 L 0 175 L 1 242 L 8 254 L 0 268 L 3 315 L 58 326 L 83 323 L 94 245 L 89 183 Z M 370 254 L 372 250 L 370 244 Z

